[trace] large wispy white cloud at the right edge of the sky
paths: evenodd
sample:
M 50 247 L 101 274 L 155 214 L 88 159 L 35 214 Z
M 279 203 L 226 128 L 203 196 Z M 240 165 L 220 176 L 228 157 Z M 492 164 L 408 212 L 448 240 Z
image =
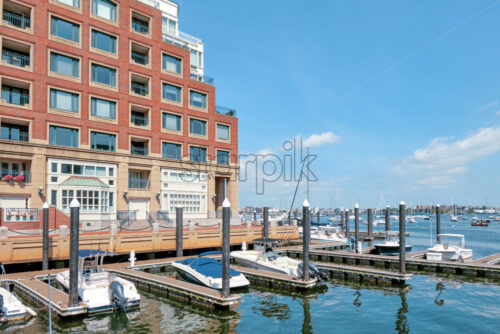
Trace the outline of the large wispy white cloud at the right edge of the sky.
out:
M 435 138 L 393 168 L 413 186 L 445 188 L 468 171 L 472 161 L 500 152 L 500 127 L 482 128 L 465 139 Z

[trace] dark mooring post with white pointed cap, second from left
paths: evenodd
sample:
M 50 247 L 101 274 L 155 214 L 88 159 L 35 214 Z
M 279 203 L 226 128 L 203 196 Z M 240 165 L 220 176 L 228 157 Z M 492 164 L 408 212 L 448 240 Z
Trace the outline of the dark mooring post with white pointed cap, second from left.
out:
M 80 203 L 73 198 L 70 212 L 69 232 L 69 304 L 78 305 L 78 249 L 79 249 L 79 225 L 80 225 Z

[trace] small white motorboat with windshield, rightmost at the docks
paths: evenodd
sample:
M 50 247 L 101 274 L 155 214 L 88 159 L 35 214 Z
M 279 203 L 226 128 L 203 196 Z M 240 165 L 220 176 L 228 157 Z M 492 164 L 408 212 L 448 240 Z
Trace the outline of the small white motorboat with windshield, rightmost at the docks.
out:
M 437 240 L 434 247 L 427 249 L 427 260 L 464 262 L 472 258 L 472 249 L 465 248 L 463 234 L 438 234 Z

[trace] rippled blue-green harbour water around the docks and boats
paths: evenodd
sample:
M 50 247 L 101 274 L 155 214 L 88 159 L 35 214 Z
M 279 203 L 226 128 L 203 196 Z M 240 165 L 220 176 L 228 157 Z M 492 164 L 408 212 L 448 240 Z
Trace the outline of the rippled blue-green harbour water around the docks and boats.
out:
M 430 243 L 431 221 L 408 224 L 414 250 Z M 352 225 L 352 223 L 351 223 Z M 392 224 L 396 227 L 396 222 Z M 383 227 L 375 227 L 376 230 Z M 366 225 L 361 225 L 366 230 Z M 435 231 L 432 232 L 435 237 Z M 471 227 L 442 219 L 442 233 L 465 234 L 474 257 L 500 252 L 500 222 Z M 250 289 L 233 313 L 204 312 L 141 291 L 141 308 L 54 324 L 56 333 L 499 333 L 500 285 L 440 276 L 414 276 L 392 288 L 331 280 L 307 294 Z M 40 313 L 41 314 L 41 313 Z M 12 333 L 45 333 L 47 317 Z

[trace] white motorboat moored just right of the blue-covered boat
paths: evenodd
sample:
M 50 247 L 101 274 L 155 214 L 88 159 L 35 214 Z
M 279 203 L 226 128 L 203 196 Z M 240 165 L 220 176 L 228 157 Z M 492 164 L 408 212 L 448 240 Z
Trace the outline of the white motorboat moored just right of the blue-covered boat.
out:
M 279 242 L 279 240 L 260 238 L 253 240 L 253 242 L 263 245 L 264 249 L 231 252 L 231 257 L 234 258 L 240 266 L 287 274 L 297 278 L 303 277 L 302 261 L 279 255 L 273 250 L 272 246 Z M 319 280 L 324 278 L 324 275 L 313 263 L 309 263 L 309 277 Z

